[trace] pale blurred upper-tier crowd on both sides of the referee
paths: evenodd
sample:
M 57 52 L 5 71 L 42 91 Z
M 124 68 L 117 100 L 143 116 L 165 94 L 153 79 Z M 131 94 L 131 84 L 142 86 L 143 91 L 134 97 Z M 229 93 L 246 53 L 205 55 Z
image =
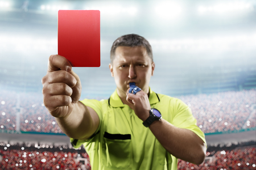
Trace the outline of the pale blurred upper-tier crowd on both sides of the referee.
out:
M 16 111 L 19 100 L 20 131 L 39 133 L 63 133 L 43 105 L 42 94 L 1 91 L 0 131 L 15 130 Z M 218 94 L 177 96 L 192 110 L 197 126 L 204 133 L 216 133 L 245 128 L 255 128 L 256 91 L 229 91 Z

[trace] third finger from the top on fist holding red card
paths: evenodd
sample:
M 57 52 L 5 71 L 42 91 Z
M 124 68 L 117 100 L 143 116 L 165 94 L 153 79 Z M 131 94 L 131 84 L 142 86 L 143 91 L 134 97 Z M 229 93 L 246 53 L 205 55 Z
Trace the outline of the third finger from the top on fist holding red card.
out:
M 43 94 L 48 95 L 72 95 L 72 88 L 65 83 L 51 83 L 48 86 L 43 88 Z

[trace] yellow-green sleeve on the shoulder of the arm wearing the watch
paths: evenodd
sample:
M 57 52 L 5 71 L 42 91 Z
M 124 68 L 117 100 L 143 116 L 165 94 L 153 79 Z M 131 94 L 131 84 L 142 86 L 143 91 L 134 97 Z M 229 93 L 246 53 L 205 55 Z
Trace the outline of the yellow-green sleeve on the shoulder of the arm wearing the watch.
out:
M 171 105 L 174 106 L 172 108 L 172 113 L 174 113 L 172 125 L 193 131 L 204 141 L 205 145 L 207 145 L 203 131 L 196 125 L 196 119 L 193 117 L 191 108 L 180 99 L 175 98 L 171 100 Z

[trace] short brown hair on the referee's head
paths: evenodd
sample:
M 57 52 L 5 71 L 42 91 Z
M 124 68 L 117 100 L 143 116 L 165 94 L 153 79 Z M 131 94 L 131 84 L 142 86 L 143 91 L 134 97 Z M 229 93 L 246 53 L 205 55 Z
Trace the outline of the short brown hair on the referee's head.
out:
M 110 61 L 113 63 L 113 60 L 115 58 L 115 49 L 117 49 L 118 46 L 144 46 L 147 50 L 148 57 L 150 57 L 153 61 L 153 54 L 152 54 L 152 48 L 150 43 L 142 36 L 139 36 L 137 34 L 131 33 L 127 35 L 123 35 L 119 37 L 117 40 L 113 42 L 112 48 L 110 50 Z

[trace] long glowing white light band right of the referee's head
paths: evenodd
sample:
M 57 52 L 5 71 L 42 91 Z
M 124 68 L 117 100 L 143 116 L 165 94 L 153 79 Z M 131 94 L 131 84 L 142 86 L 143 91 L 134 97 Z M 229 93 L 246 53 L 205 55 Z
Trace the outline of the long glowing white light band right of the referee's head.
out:
M 213 36 L 207 38 L 149 40 L 156 51 L 203 51 L 255 49 L 256 33 L 234 36 Z

